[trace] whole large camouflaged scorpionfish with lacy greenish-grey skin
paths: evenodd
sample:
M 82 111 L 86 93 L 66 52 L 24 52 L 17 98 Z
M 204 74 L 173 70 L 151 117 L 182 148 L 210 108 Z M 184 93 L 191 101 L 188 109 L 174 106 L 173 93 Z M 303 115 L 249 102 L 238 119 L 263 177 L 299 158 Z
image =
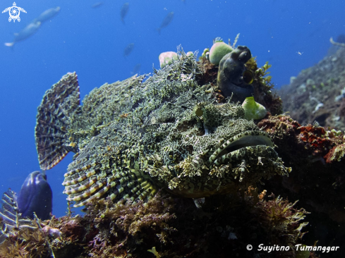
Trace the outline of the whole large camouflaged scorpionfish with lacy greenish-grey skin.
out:
M 199 85 L 196 54 L 154 75 L 92 90 L 80 106 L 78 78 L 68 73 L 38 107 L 35 128 L 43 170 L 75 152 L 63 185 L 81 207 L 109 196 L 147 201 L 159 189 L 207 197 L 287 175 L 270 136 L 244 119 L 239 104 L 217 104 Z

